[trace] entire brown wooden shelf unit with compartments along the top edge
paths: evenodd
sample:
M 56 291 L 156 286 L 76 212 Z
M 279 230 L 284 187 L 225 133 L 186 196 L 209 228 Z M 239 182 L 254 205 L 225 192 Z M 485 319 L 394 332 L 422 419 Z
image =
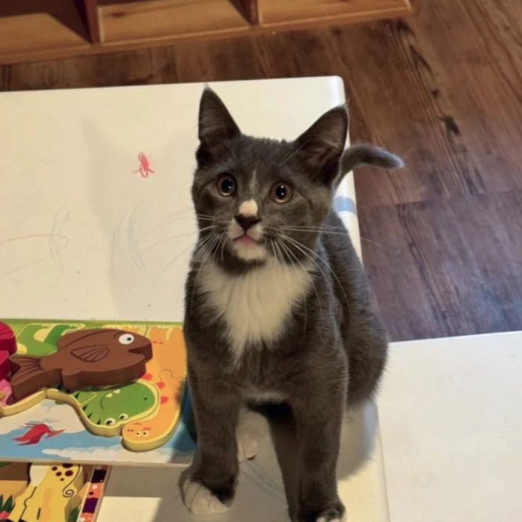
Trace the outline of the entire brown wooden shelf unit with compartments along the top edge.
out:
M 0 0 L 0 63 L 405 16 L 412 0 Z

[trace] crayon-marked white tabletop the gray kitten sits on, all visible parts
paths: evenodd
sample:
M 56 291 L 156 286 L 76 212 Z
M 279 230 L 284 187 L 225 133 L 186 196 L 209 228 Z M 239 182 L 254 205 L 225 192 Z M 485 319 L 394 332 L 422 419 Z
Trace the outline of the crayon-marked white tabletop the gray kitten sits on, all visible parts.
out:
M 292 139 L 344 101 L 337 77 L 212 84 L 245 133 Z M 0 317 L 179 321 L 196 238 L 189 187 L 201 84 L 0 94 Z M 145 153 L 154 171 L 137 172 Z M 336 197 L 359 249 L 353 178 Z M 1 422 L 1 420 L 0 420 Z M 115 468 L 101 522 L 189 520 L 180 468 Z M 373 405 L 347 418 L 339 488 L 387 522 Z M 269 440 L 225 520 L 286 519 Z

